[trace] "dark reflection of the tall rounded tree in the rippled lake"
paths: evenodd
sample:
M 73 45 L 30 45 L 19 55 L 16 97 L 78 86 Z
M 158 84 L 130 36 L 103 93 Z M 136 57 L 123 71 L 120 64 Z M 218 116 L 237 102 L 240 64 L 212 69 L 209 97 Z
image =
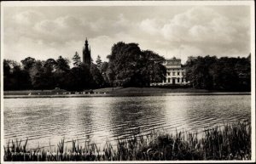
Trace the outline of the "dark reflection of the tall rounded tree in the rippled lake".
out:
M 163 104 L 153 97 L 123 97 L 116 99 L 110 112 L 113 137 L 148 133 L 155 126 L 166 124 Z

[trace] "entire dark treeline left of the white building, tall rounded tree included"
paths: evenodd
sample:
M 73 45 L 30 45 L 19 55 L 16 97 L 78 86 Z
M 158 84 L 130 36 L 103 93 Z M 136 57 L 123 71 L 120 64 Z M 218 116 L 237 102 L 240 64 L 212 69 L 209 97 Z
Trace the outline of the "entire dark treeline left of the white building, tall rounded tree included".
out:
M 61 56 L 45 61 L 27 57 L 21 63 L 3 60 L 4 90 L 54 89 L 80 91 L 103 87 L 145 87 L 150 81 L 160 82 L 166 75 L 164 58 L 152 51 L 142 51 L 138 44 L 118 42 L 108 55 L 109 62 L 81 62 L 79 54 L 70 61 Z

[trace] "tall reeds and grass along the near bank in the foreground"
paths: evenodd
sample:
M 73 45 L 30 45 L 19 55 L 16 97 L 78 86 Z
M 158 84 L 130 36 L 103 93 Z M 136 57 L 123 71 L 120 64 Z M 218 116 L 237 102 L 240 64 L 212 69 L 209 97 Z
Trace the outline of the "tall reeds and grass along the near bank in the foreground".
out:
M 27 150 L 26 143 L 12 141 L 4 147 L 4 161 L 163 161 L 163 160 L 250 160 L 251 125 L 239 122 L 223 128 L 208 128 L 199 138 L 197 133 L 150 133 L 118 139 L 117 145 L 106 142 L 84 145 L 72 141 L 67 150 L 64 139 L 55 151 Z

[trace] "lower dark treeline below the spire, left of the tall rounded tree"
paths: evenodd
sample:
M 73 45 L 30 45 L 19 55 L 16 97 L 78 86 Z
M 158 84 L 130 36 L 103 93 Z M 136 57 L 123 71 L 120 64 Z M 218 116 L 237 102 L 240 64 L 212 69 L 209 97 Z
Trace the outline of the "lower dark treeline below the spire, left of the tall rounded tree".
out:
M 61 56 L 58 59 L 36 60 L 31 57 L 15 61 L 3 60 L 4 90 L 54 89 L 83 90 L 108 86 L 104 82 L 102 71 L 104 63 L 98 56 L 99 65 L 84 65 L 79 54 L 73 57 L 73 68 L 69 60 Z

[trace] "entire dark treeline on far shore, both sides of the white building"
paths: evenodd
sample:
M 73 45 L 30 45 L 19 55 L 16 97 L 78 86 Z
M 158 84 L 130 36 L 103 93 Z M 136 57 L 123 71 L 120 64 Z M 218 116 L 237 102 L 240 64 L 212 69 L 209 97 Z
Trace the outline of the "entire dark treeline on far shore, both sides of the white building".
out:
M 70 61 L 61 56 L 45 61 L 27 57 L 20 64 L 3 60 L 4 90 L 54 89 L 80 91 L 104 87 L 148 87 L 150 82 L 166 78 L 165 61 L 159 54 L 141 50 L 137 43 L 117 42 L 102 62 L 81 62 L 79 54 Z M 193 88 L 224 91 L 250 91 L 251 55 L 247 58 L 217 58 L 216 56 L 189 57 L 186 78 Z

